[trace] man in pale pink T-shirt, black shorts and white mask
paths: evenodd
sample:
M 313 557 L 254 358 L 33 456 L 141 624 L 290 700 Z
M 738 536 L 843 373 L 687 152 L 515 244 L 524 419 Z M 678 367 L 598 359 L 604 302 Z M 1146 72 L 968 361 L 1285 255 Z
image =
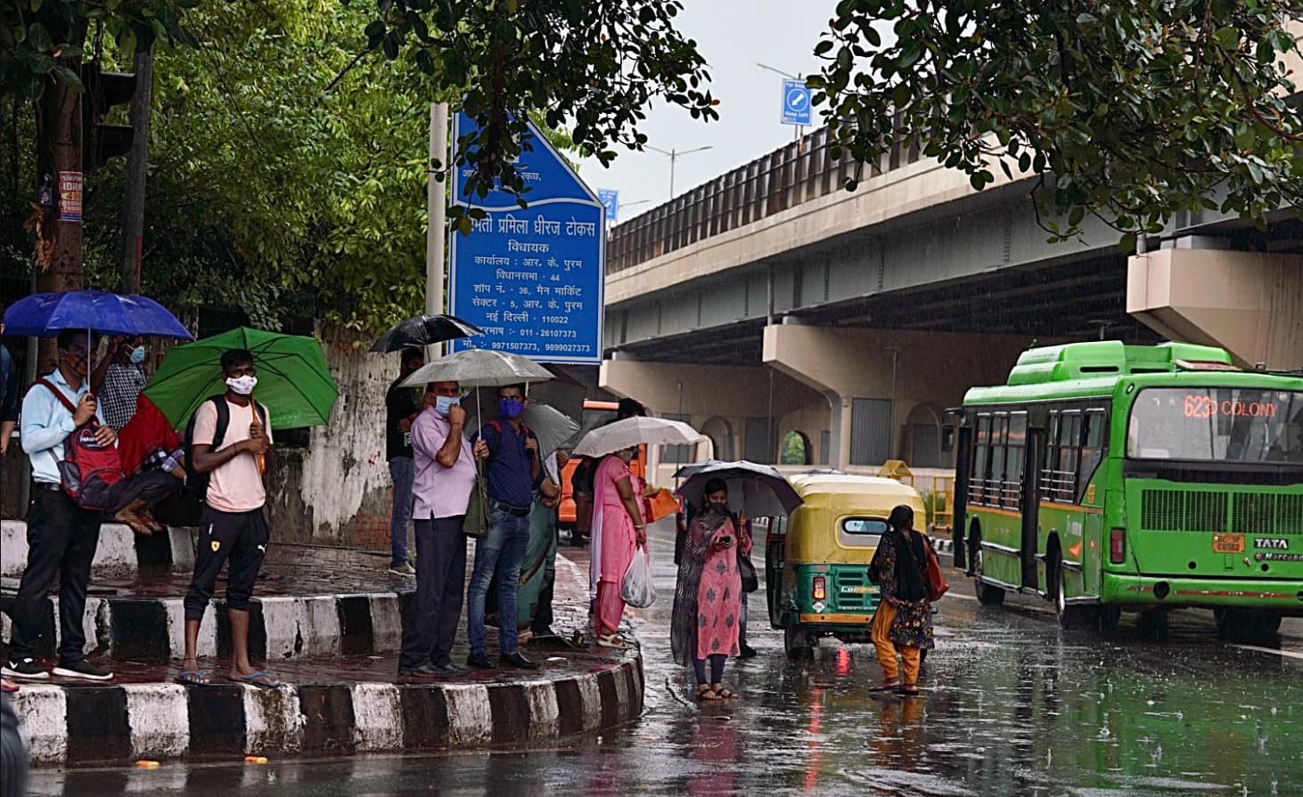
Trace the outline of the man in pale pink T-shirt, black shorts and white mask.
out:
M 220 401 L 225 402 L 229 414 L 220 445 L 212 445 L 218 427 L 216 402 L 205 401 L 194 418 L 194 461 L 190 466 L 195 473 L 208 474 L 208 486 L 199 521 L 194 577 L 185 595 L 185 658 L 177 681 L 188 686 L 208 682 L 208 677 L 198 669 L 199 624 L 212 599 L 218 573 L 229 561 L 227 613 L 231 617 L 232 662 L 227 677 L 250 686 L 275 689 L 280 682 L 249 662 L 249 599 L 271 542 L 263 510 L 267 491 L 258 464 L 258 456 L 267 456 L 271 447 L 271 425 L 266 406 L 253 398 L 254 385 L 258 384 L 253 354 L 244 349 L 225 352 L 222 371 L 227 392 Z

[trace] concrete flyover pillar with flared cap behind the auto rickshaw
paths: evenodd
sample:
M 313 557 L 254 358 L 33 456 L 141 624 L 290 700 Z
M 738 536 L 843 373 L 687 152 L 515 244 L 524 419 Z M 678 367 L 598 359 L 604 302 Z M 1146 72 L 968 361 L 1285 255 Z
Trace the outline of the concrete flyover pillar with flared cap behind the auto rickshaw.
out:
M 958 406 L 972 385 L 1003 384 L 1029 343 L 1007 335 L 777 324 L 765 328 L 764 359 L 827 398 L 834 441 L 829 464 L 844 469 L 851 465 L 853 400 L 893 397 L 893 349 L 898 352 L 890 452 L 900 457 L 904 423 L 915 406 Z

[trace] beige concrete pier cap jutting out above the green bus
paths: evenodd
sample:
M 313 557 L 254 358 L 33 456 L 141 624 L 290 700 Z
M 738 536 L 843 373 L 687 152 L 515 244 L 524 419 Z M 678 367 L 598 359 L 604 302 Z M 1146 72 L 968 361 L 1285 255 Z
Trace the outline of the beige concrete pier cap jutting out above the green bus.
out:
M 1156 332 L 1225 348 L 1242 367 L 1303 367 L 1303 257 L 1160 249 L 1127 263 L 1127 313 Z

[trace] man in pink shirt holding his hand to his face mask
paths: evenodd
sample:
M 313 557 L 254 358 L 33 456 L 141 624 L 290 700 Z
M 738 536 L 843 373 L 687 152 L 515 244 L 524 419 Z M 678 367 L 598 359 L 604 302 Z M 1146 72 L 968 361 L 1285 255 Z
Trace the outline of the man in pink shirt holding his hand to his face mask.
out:
M 466 410 L 459 395 L 456 382 L 430 383 L 425 409 L 412 422 L 416 600 L 403 625 L 399 675 L 404 676 L 466 672 L 451 658 L 466 580 L 461 525 L 476 484 L 474 448 L 463 434 Z

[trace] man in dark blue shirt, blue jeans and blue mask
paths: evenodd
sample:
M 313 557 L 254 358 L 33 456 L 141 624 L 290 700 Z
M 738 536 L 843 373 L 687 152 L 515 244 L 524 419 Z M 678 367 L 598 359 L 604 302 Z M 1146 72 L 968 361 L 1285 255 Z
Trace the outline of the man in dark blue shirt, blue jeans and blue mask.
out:
M 498 647 L 500 663 L 521 669 L 538 669 L 537 662 L 521 655 L 516 636 L 516 590 L 520 564 L 529 548 L 529 513 L 534 484 L 542 481 L 538 438 L 521 422 L 528 406 L 525 385 L 498 388 L 498 419 L 480 428 L 476 453 L 485 460 L 489 482 L 490 529 L 476 542 L 476 568 L 466 590 L 466 637 L 470 642 L 469 667 L 491 668 L 485 652 L 485 599 L 489 582 L 498 577 Z

